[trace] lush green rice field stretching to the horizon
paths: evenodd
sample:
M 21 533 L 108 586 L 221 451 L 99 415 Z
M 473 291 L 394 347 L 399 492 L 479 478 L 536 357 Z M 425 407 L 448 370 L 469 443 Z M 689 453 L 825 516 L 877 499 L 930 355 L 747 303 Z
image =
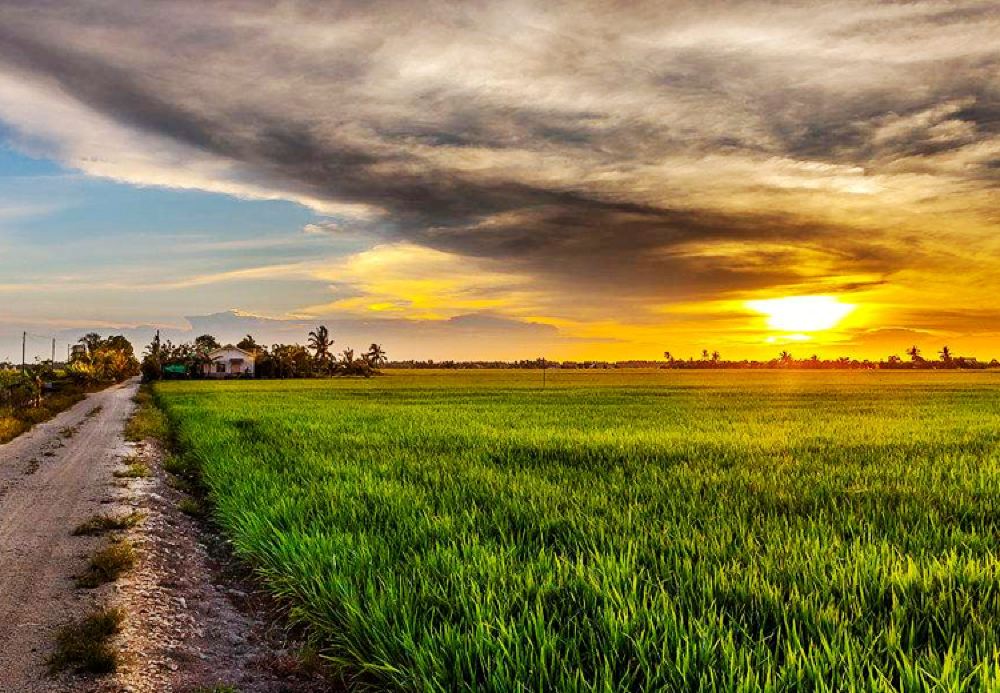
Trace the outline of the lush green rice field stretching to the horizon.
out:
M 1000 373 L 156 386 L 331 662 L 407 691 L 1000 690 Z

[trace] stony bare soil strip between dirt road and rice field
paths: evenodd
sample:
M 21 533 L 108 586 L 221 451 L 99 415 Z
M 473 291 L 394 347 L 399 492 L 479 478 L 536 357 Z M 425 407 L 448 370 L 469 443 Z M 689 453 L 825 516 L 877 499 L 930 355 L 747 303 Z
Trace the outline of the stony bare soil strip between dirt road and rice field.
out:
M 136 444 L 135 454 L 150 476 L 117 483 L 130 491 L 129 510 L 146 515 L 127 532 L 140 559 L 110 599 L 127 613 L 122 665 L 96 690 L 339 690 L 304 664 L 301 643 L 281 627 L 280 614 L 228 556 L 225 542 L 179 509 L 187 495 L 168 483 L 159 446 Z

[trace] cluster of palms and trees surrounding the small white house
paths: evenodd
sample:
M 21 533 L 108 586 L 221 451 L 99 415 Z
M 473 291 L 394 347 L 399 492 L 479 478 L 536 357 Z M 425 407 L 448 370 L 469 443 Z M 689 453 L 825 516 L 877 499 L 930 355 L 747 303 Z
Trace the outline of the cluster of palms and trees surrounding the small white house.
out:
M 338 354 L 334 353 L 334 343 L 325 325 L 309 332 L 305 345 L 272 344 L 270 347 L 258 344 L 251 335 L 223 347 L 209 334 L 191 342 L 174 344 L 170 340 L 161 341 L 157 333 L 143 353 L 142 374 L 146 380 L 201 377 L 205 367 L 213 363 L 212 352 L 230 347 L 253 357 L 254 373 L 258 378 L 371 377 L 386 363 L 385 350 L 379 344 L 373 343 L 361 353 L 344 349 Z

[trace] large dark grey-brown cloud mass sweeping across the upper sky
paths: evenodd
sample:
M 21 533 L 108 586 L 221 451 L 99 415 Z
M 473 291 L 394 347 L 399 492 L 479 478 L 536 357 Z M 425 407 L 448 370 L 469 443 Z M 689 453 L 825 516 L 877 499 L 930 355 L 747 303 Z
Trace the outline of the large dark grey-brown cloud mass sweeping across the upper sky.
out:
M 994 189 L 998 30 L 975 2 L 12 2 L 0 71 L 237 186 L 360 205 L 542 281 L 683 297 L 809 279 L 762 244 L 821 249 L 831 272 L 911 262 L 890 228 L 787 189 L 909 172 Z M 759 202 L 731 207 L 737 190 Z M 743 257 L 688 252 L 734 242 Z

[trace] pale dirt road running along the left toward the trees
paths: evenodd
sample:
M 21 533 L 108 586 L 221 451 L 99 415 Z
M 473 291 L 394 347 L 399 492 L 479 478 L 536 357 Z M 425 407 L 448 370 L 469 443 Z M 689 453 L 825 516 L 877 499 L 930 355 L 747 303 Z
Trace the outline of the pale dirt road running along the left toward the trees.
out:
M 72 577 L 98 540 L 71 533 L 124 493 L 113 471 L 137 386 L 90 395 L 0 445 L 0 693 L 79 690 L 47 678 L 45 660 L 54 631 L 96 599 Z

